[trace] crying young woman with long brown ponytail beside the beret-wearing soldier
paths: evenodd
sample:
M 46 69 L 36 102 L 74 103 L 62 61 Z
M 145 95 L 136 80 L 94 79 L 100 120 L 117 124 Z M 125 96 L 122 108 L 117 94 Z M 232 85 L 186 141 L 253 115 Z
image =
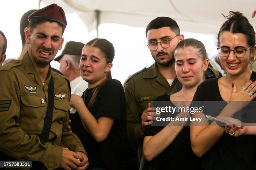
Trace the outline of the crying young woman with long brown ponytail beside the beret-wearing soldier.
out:
M 114 55 L 108 40 L 95 38 L 84 45 L 80 73 L 88 88 L 82 97 L 72 95 L 70 100 L 77 109 L 70 117 L 72 132 L 82 141 L 92 170 L 120 170 L 122 166 L 125 96 L 122 84 L 111 77 Z

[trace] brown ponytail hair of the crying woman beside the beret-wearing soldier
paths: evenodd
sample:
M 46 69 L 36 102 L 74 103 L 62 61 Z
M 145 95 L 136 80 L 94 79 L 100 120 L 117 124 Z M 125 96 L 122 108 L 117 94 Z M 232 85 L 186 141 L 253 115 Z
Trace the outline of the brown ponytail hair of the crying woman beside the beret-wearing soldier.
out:
M 97 47 L 98 49 L 100 49 L 100 51 L 102 52 L 102 54 L 105 56 L 106 62 L 107 64 L 110 62 L 113 62 L 114 56 L 115 56 L 115 49 L 114 46 L 111 42 L 109 42 L 106 39 L 103 38 L 95 38 L 93 40 L 90 40 L 89 42 L 87 42 L 87 44 L 85 44 L 85 46 L 90 46 L 90 47 Z M 100 91 L 100 88 L 105 85 L 105 83 L 107 82 L 107 80 L 111 80 L 112 79 L 112 75 L 111 75 L 111 71 L 109 70 L 107 72 L 107 77 L 106 80 L 104 80 L 103 82 L 100 83 L 100 85 L 98 85 L 92 92 L 92 97 L 90 98 L 90 101 L 88 103 L 88 108 L 92 107 L 92 105 L 95 102 L 95 99 Z

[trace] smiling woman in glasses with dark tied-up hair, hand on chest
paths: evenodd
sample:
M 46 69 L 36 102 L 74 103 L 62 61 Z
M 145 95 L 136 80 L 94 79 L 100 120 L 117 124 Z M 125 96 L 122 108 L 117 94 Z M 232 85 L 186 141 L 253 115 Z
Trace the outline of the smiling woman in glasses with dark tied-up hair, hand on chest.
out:
M 253 107 L 250 101 L 255 100 L 256 97 L 254 94 L 256 73 L 249 68 L 249 64 L 255 60 L 255 32 L 241 13 L 230 12 L 228 20 L 221 26 L 218 33 L 218 50 L 221 65 L 227 75 L 202 82 L 193 100 L 222 101 L 223 106 L 215 106 L 220 107 L 216 115 L 236 117 L 238 114 L 236 111 L 241 108 Z M 233 101 L 249 102 L 235 103 Z M 241 114 L 241 117 L 247 117 L 255 112 L 248 111 Z M 193 116 L 205 117 L 205 115 L 207 112 Z M 256 169 L 255 135 L 234 138 L 232 136 L 234 133 L 225 133 L 225 129 L 220 128 L 215 121 L 208 125 L 208 120 L 203 119 L 201 123 L 201 126 L 190 127 L 190 138 L 193 152 L 197 156 L 204 155 L 202 167 L 205 170 Z

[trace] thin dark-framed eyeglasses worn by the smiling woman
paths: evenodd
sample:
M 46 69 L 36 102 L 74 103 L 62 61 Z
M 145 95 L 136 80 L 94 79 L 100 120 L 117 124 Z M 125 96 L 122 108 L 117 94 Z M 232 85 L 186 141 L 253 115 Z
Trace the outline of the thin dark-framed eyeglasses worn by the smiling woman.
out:
M 230 50 L 228 47 L 218 47 L 217 50 L 219 51 L 220 57 L 227 57 L 230 54 L 230 51 L 234 52 L 236 57 L 243 57 L 248 49 L 253 47 L 254 45 L 244 48 L 244 47 L 237 47 L 234 50 Z

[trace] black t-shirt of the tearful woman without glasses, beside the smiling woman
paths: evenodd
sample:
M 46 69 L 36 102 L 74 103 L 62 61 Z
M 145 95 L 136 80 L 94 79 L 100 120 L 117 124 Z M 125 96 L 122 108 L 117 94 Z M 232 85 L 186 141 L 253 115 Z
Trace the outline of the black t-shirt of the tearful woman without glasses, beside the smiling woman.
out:
M 169 101 L 169 95 L 156 97 L 156 101 Z M 172 102 L 171 104 L 176 107 Z M 144 136 L 154 136 L 165 126 L 146 126 Z M 159 139 L 161 140 L 161 139 Z M 153 168 L 154 170 L 200 170 L 201 158 L 198 158 L 190 145 L 189 126 L 184 126 L 174 141 L 156 158 L 146 162 L 143 170 Z

